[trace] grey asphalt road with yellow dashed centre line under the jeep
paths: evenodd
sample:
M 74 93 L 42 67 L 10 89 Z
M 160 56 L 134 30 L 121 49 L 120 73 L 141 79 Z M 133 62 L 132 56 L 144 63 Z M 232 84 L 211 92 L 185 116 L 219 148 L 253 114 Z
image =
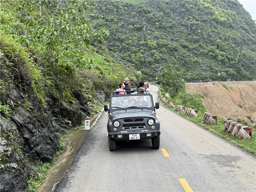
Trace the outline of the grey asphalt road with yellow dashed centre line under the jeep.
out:
M 148 91 L 158 101 L 158 87 Z M 132 140 L 109 151 L 103 112 L 55 191 L 256 191 L 255 155 L 161 105 L 156 116 L 159 149 Z

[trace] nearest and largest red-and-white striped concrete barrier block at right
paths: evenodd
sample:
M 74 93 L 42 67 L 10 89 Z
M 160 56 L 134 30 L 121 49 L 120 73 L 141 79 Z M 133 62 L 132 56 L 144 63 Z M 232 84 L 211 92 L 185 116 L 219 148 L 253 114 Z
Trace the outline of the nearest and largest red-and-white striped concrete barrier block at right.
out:
M 233 120 L 224 121 L 224 131 L 238 139 L 252 139 L 252 128 Z

